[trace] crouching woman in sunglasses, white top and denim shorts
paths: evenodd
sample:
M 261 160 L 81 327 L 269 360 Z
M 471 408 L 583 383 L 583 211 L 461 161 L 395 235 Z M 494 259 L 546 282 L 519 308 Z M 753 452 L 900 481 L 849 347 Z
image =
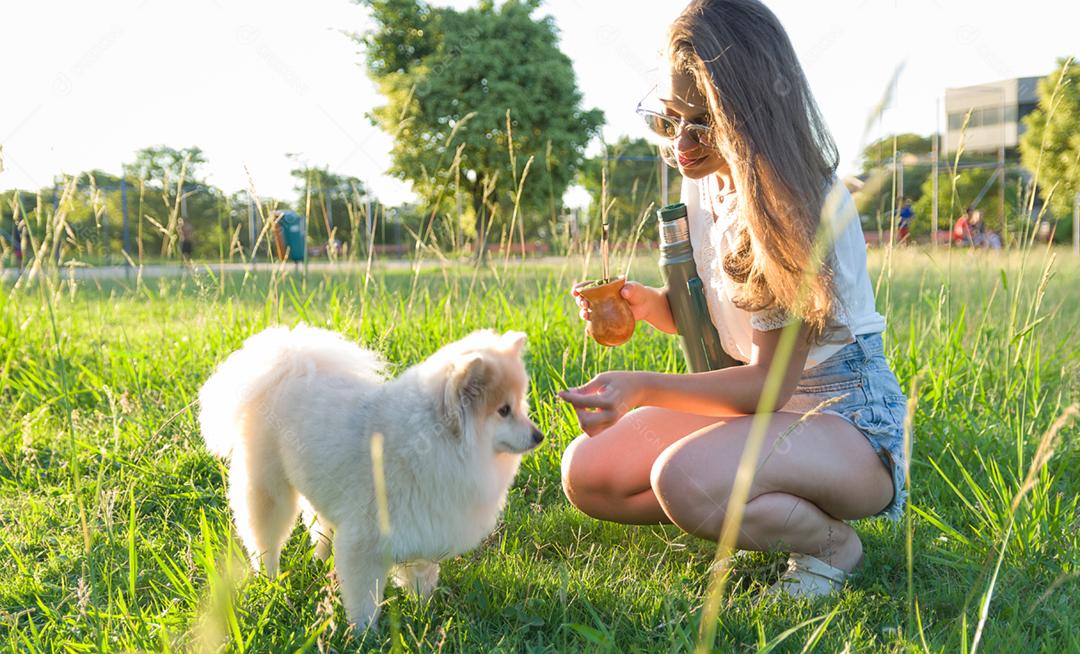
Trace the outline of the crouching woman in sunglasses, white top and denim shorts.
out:
M 662 113 L 642 113 L 669 139 L 712 319 L 745 365 L 605 372 L 561 393 L 584 432 L 564 454 L 564 489 L 596 518 L 716 540 L 781 328 L 795 322 L 737 545 L 792 553 L 774 591 L 826 595 L 863 556 L 845 520 L 904 507 L 905 397 L 882 354 L 859 218 L 794 49 L 760 2 L 692 2 L 665 58 Z M 819 226 L 833 242 L 820 257 Z M 663 289 L 629 283 L 623 297 L 636 319 L 675 332 Z

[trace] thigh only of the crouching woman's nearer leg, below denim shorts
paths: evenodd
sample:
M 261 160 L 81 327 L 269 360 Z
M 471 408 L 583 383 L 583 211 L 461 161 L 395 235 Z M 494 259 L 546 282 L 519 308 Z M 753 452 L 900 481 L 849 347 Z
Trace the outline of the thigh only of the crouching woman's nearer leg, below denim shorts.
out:
M 747 499 L 784 492 L 841 520 L 881 510 L 892 500 L 892 478 L 869 441 L 837 415 L 801 418 L 771 415 Z M 675 510 L 726 508 L 753 420 L 732 418 L 669 447 L 653 473 L 662 504 Z

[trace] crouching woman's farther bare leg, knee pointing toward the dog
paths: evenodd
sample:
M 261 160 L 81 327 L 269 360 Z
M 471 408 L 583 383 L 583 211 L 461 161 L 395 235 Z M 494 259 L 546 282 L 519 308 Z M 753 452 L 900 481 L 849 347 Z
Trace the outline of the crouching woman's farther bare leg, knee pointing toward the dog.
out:
M 646 407 L 626 413 L 596 436 L 578 436 L 563 453 L 567 499 L 602 520 L 670 522 L 649 483 L 652 464 L 673 442 L 718 420 Z

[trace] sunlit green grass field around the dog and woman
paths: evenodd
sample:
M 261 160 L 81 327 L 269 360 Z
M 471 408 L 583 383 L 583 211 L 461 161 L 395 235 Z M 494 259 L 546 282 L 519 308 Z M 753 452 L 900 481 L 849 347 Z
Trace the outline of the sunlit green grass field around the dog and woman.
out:
M 912 250 L 876 254 L 872 268 L 889 359 L 916 389 L 910 521 L 856 522 L 862 572 L 816 603 L 760 603 L 783 557 L 740 559 L 713 646 L 1080 651 L 1077 423 L 1052 430 L 1080 395 L 1080 262 L 1065 250 L 1054 261 L 1044 249 Z M 658 281 L 651 261 L 634 270 Z M 648 327 L 615 350 L 586 342 L 567 294 L 581 277 L 568 260 L 370 280 L 6 284 L 0 649 L 694 648 L 715 546 L 598 522 L 562 494 L 559 455 L 577 430 L 554 392 L 606 369 L 683 366 L 676 342 Z M 262 327 L 297 321 L 401 367 L 473 328 L 529 336 L 534 417 L 549 440 L 525 459 L 497 531 L 444 564 L 430 602 L 392 590 L 378 633 L 349 631 L 299 532 L 283 576 L 245 569 L 221 464 L 199 438 L 192 403 L 215 364 Z

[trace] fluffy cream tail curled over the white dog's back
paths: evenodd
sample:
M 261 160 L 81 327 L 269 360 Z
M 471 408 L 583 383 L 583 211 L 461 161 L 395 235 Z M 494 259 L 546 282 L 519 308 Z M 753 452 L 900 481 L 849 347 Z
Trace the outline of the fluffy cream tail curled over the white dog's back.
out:
M 270 327 L 244 341 L 199 391 L 199 424 L 203 441 L 218 457 L 228 457 L 245 434 L 245 419 L 288 378 L 315 370 L 382 383 L 386 364 L 378 354 L 341 335 L 300 324 Z

